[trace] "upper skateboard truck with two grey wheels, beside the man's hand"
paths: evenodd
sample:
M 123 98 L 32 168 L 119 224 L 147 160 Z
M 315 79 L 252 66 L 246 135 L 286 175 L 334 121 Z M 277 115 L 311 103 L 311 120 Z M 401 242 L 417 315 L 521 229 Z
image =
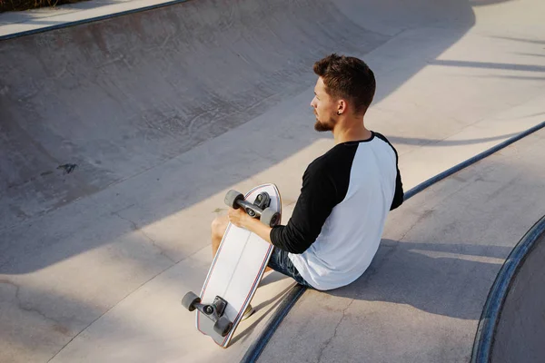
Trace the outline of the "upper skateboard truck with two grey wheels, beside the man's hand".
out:
M 237 210 L 243 210 L 252 218 L 258 218 L 263 224 L 274 227 L 280 221 L 280 213 L 269 208 L 271 197 L 265 191 L 259 193 L 253 203 L 244 200 L 243 193 L 239 191 L 228 191 L 225 195 L 225 204 Z

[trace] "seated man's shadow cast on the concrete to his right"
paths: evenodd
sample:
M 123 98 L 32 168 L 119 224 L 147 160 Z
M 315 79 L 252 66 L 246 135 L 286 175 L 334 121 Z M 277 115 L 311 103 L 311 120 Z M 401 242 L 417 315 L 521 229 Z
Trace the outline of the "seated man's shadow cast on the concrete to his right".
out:
M 432 314 L 480 319 L 510 247 L 382 240 L 362 277 L 325 291 L 349 299 L 408 304 Z

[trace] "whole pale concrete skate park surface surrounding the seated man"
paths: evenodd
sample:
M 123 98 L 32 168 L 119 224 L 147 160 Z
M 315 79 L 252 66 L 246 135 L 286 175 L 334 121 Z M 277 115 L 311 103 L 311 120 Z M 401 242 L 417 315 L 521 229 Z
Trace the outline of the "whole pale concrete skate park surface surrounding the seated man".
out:
M 322 56 L 375 72 L 366 123 L 405 191 L 545 121 L 539 0 L 229 3 L 0 15 L 0 361 L 243 358 L 291 280 L 264 277 L 227 349 L 180 299 L 202 286 L 225 192 L 276 183 L 285 223 L 332 147 L 309 105 Z M 130 14 L 94 20 L 115 11 Z M 469 361 L 490 286 L 545 214 L 544 139 L 392 211 L 372 268 L 305 291 L 259 361 Z

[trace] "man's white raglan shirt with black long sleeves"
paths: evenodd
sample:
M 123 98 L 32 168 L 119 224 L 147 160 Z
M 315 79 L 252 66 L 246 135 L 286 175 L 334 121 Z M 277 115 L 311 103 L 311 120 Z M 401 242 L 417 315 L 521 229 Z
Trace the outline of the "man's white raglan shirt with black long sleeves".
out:
M 403 201 L 398 154 L 378 132 L 342 142 L 314 160 L 302 176 L 292 218 L 271 231 L 315 289 L 336 289 L 367 270 L 379 248 L 388 212 Z

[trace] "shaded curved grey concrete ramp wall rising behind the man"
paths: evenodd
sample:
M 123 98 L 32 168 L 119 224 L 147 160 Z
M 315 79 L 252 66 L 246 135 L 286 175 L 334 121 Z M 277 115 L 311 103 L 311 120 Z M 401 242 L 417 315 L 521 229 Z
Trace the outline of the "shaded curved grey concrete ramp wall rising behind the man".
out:
M 390 38 L 328 0 L 196 0 L 3 41 L 0 229 L 252 120 L 308 88 L 326 54 Z

